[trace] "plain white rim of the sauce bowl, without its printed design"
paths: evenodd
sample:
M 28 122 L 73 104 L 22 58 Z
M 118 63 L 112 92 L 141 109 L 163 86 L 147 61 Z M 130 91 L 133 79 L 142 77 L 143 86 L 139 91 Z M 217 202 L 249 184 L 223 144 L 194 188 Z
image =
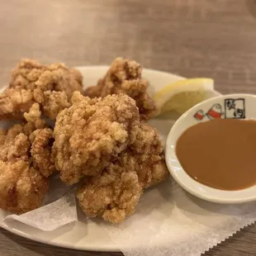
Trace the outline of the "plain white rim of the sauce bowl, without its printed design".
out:
M 171 173 L 173 179 L 179 184 L 179 186 L 183 187 L 184 190 L 191 193 L 195 197 L 199 197 L 206 201 L 222 204 L 238 204 L 248 201 L 256 201 L 256 185 L 253 187 L 244 188 L 243 190 L 225 191 L 198 183 L 196 180 L 191 178 L 182 168 L 181 164 L 179 164 L 178 158 L 175 153 L 176 141 L 174 142 L 173 140 L 175 139 L 175 133 L 179 133 L 180 135 L 183 133 L 183 131 L 181 131 L 182 129 L 180 124 L 185 118 L 187 118 L 187 116 L 193 115 L 197 110 L 202 109 L 204 106 L 209 105 L 210 103 L 214 104 L 222 99 L 230 97 L 254 98 L 256 105 L 256 96 L 250 93 L 231 93 L 212 97 L 203 102 L 200 102 L 194 107 L 187 110 L 182 116 L 178 118 L 178 121 L 174 123 L 173 127 L 168 133 L 165 145 L 165 161 L 168 167 L 168 171 Z M 193 123 L 191 125 L 188 125 L 187 128 L 192 125 Z M 185 130 L 187 130 L 187 128 Z M 178 137 L 180 135 L 178 135 Z M 237 197 L 238 194 L 241 195 L 241 193 L 249 193 L 249 191 L 254 191 L 254 194 L 252 193 L 250 196 L 246 197 Z

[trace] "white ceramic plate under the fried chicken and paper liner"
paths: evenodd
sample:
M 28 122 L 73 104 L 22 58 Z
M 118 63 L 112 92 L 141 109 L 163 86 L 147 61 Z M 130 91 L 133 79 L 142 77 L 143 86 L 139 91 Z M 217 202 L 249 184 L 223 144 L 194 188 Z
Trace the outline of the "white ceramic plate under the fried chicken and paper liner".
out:
M 107 66 L 78 67 L 81 73 L 83 73 L 84 87 L 95 85 L 97 80 L 102 78 L 102 76 L 106 73 L 107 68 Z M 169 83 L 183 79 L 171 73 L 164 73 L 150 69 L 144 69 L 143 76 L 149 79 L 150 94 L 163 88 Z M 212 92 L 209 97 L 214 97 L 217 95 L 219 95 L 218 92 Z M 173 126 L 173 121 L 169 121 L 167 125 L 166 120 L 152 120 L 150 121 L 150 124 L 159 130 L 160 135 L 165 141 L 168 131 L 170 130 L 171 126 Z M 36 228 L 21 224 L 17 221 L 5 224 L 2 222 L 3 217 L 4 213 L 0 210 L 0 226 L 3 229 L 41 243 L 52 244 L 70 249 L 93 251 L 119 251 L 120 247 L 124 248 L 124 246 L 121 246 L 121 244 L 115 244 L 110 239 L 109 235 L 107 235 L 107 231 L 104 230 L 99 223 L 97 223 L 97 220 L 86 220 L 83 214 L 78 215 L 78 222 L 65 225 L 50 232 L 37 230 Z M 141 245 L 145 246 L 144 244 Z

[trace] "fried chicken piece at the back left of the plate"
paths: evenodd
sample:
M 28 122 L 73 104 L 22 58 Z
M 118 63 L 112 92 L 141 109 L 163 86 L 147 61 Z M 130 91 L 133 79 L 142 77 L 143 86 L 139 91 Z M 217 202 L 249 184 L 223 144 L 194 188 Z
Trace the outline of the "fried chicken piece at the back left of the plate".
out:
M 21 119 L 33 103 L 52 120 L 70 106 L 74 91 L 82 91 L 82 75 L 64 64 L 45 66 L 23 59 L 12 72 L 9 87 L 0 95 L 0 119 Z

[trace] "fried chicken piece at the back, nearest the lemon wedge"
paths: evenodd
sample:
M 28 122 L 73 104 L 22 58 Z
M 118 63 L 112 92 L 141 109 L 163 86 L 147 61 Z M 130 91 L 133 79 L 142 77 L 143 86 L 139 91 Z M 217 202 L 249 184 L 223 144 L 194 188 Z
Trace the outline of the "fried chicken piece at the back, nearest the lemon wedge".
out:
M 156 107 L 146 92 L 149 83 L 141 78 L 141 72 L 141 65 L 135 60 L 117 58 L 105 77 L 98 81 L 97 86 L 87 88 L 84 95 L 106 97 L 109 94 L 126 93 L 135 100 L 141 119 L 149 119 L 154 116 Z

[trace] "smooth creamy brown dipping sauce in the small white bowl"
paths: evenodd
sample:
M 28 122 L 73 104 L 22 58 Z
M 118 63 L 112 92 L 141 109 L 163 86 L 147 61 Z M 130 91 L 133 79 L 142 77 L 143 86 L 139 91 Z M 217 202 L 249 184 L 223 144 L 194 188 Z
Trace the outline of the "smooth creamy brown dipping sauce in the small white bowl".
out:
M 197 182 L 221 190 L 256 184 L 256 121 L 215 119 L 189 127 L 176 154 Z

